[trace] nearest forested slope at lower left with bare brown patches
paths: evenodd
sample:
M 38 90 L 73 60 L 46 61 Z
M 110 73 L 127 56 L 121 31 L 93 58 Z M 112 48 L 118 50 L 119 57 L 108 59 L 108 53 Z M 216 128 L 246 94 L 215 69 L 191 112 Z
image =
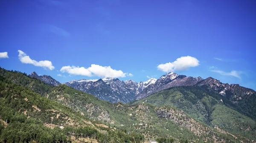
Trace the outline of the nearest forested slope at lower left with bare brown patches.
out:
M 12 75 L 18 77 L 23 74 L 15 72 Z M 31 83 L 35 82 L 32 79 Z M 0 142 L 71 143 L 81 140 L 140 143 L 144 140 L 143 135 L 128 135 L 122 130 L 90 121 L 79 112 L 13 84 L 3 76 L 0 76 L 0 91 Z M 64 126 L 64 129 L 59 126 Z

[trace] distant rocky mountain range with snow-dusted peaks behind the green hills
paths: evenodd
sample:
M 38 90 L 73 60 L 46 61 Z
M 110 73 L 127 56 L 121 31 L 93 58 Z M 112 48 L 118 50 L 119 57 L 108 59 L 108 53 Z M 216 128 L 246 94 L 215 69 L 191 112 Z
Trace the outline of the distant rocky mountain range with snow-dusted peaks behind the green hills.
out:
M 61 84 L 51 76 L 38 76 L 33 72 L 29 75 L 40 79 L 48 85 L 56 86 Z M 103 79 L 80 79 L 65 82 L 74 89 L 89 93 L 99 99 L 114 102 L 127 103 L 134 100 L 139 100 L 148 95 L 157 93 L 161 90 L 166 90 L 170 87 L 179 86 L 207 86 L 209 90 L 218 91 L 222 96 L 227 97 L 233 103 L 239 104 L 242 99 L 248 99 L 255 93 L 254 90 L 241 87 L 239 84 L 223 84 L 220 81 L 211 77 L 202 79 L 201 77 L 191 77 L 178 75 L 177 73 L 167 73 L 159 79 L 151 78 L 148 81 L 135 82 L 132 80 L 120 81 L 114 78 Z

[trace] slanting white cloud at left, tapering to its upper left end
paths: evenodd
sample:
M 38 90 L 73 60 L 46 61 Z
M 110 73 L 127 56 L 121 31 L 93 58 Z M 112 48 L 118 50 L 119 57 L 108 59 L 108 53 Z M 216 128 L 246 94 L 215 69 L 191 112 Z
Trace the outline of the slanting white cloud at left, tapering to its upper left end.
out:
M 19 59 L 20 59 L 20 62 L 24 63 L 24 64 L 33 64 L 37 67 L 44 67 L 44 69 L 48 68 L 49 70 L 53 70 L 54 69 L 54 66 L 52 65 L 52 62 L 51 61 L 35 61 L 33 59 L 30 59 L 29 56 L 26 55 L 26 53 L 24 53 L 23 51 L 21 50 L 18 50 L 19 52 Z

